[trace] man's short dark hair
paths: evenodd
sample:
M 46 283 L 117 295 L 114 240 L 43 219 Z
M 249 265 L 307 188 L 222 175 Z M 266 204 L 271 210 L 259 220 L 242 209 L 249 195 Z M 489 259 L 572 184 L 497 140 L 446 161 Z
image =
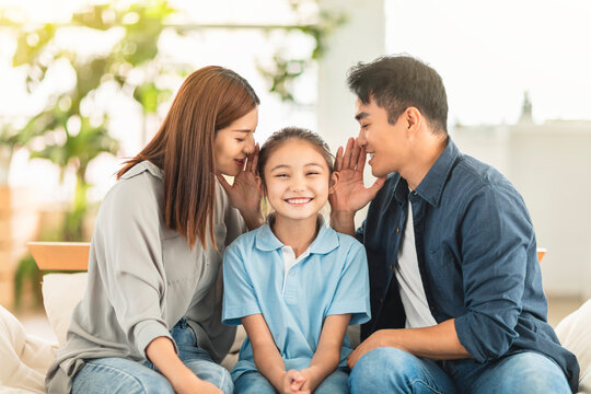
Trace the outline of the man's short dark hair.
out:
M 436 70 L 409 56 L 380 57 L 349 69 L 347 84 L 363 104 L 386 109 L 392 125 L 408 107 L 427 117 L 433 134 L 448 134 L 448 99 Z

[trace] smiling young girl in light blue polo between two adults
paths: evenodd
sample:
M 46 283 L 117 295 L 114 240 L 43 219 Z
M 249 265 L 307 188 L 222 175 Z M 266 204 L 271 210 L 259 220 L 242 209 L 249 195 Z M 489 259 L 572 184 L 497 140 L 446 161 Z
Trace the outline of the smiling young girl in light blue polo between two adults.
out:
M 345 332 L 370 317 L 368 267 L 363 246 L 318 215 L 338 183 L 328 147 L 282 129 L 260 149 L 258 174 L 275 212 L 223 263 L 223 323 L 248 336 L 235 392 L 348 393 Z

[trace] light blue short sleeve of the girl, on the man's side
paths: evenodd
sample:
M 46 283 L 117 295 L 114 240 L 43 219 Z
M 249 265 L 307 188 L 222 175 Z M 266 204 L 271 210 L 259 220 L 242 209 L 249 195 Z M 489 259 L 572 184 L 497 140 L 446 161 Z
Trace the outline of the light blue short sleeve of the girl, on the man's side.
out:
M 347 254 L 327 315 L 351 313 L 349 324 L 370 320 L 368 257 L 363 245 L 355 242 Z

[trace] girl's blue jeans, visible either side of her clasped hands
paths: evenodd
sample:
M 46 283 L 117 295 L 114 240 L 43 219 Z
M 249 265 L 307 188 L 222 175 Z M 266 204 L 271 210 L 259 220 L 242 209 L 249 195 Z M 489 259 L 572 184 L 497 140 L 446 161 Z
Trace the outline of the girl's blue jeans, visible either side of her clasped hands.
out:
M 316 387 L 314 394 L 348 394 L 349 373 L 346 368 L 338 368 Z M 257 371 L 246 372 L 234 382 L 235 394 L 274 394 L 277 393 L 270 382 Z

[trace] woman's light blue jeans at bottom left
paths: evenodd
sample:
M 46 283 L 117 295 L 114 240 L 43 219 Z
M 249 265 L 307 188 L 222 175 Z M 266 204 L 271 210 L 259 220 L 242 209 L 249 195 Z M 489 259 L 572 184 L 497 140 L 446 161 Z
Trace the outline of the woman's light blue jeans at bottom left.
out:
M 232 394 L 234 385 L 230 373 L 217 364 L 209 352 L 196 346 L 195 333 L 183 317 L 171 329 L 178 348 L 178 357 L 199 379 L 208 381 L 224 394 Z M 174 394 L 164 375 L 150 361 L 144 363 L 120 357 L 88 360 L 76 374 L 72 394 Z

